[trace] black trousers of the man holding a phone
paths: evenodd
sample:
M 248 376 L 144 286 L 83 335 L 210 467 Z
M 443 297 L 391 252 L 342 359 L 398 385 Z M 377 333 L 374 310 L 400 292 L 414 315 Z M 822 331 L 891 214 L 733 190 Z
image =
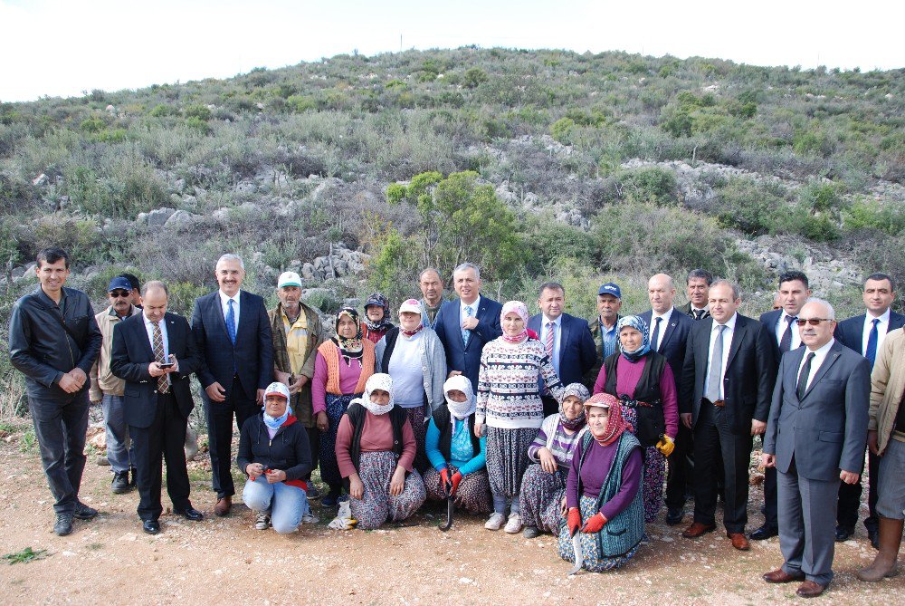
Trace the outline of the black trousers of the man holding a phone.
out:
M 138 484 L 138 517 L 157 520 L 163 512 L 160 505 L 163 459 L 167 459 L 167 494 L 176 510 L 192 506 L 188 500 L 191 485 L 186 469 L 186 425 L 188 419 L 179 412 L 173 394 L 157 394 L 157 412 L 147 428 L 129 425 L 129 438 L 135 448 Z

